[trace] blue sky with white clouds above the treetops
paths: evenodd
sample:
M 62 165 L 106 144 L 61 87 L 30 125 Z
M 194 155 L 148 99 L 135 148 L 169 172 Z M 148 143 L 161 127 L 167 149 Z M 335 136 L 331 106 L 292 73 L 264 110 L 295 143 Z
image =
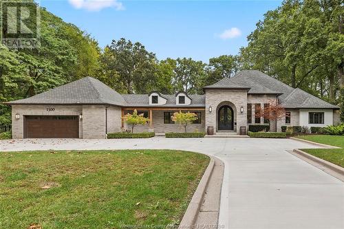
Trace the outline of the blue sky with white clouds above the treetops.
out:
M 281 1 L 41 0 L 41 6 L 86 30 L 100 47 L 125 37 L 158 59 L 237 54 L 246 36 Z

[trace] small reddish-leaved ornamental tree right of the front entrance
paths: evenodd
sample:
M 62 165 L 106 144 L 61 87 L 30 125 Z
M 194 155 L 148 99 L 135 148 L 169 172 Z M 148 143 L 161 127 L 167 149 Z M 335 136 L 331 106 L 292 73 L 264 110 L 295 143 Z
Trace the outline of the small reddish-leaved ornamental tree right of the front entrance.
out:
M 255 116 L 268 120 L 269 127 L 271 122 L 285 118 L 286 110 L 279 105 L 276 100 L 268 100 L 265 104 L 268 104 L 269 106 L 264 108 L 259 107 L 256 109 Z

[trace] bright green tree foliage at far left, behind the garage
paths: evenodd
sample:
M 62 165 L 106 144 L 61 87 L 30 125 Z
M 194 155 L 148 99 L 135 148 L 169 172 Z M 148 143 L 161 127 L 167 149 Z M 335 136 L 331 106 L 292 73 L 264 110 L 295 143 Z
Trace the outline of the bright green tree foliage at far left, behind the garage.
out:
M 8 50 L 0 44 L 0 103 L 92 76 L 99 54 L 88 34 L 41 8 L 41 47 Z M 0 124 L 10 122 L 10 107 L 0 104 Z

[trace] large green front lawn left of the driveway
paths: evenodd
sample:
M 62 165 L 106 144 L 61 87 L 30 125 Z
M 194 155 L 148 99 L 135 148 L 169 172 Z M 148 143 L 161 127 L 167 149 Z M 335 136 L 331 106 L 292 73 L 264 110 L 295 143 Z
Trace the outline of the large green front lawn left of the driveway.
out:
M 208 162 L 166 150 L 0 153 L 0 228 L 178 224 Z

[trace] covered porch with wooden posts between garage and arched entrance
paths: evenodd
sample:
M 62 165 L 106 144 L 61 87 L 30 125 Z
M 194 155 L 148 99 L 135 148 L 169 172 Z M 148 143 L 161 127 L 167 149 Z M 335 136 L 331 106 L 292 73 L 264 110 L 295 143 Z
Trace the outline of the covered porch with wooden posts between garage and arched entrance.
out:
M 149 122 L 145 125 L 138 125 L 134 128 L 134 132 L 184 132 L 184 127 L 179 123 L 174 123 L 171 116 L 175 112 L 193 112 L 197 114 L 197 120 L 187 127 L 188 132 L 205 131 L 205 108 L 204 107 L 122 107 L 122 117 L 134 110 L 143 113 L 145 118 L 149 118 Z M 122 119 L 122 129 L 131 129 Z

